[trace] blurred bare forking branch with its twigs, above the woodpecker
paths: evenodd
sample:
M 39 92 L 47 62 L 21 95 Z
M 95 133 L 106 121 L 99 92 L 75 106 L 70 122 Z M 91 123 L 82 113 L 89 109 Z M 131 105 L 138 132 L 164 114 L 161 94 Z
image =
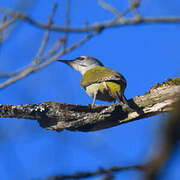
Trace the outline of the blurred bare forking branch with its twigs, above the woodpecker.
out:
M 6 9 L 3 7 L 0 7 L 0 12 L 2 12 L 5 15 L 11 16 L 9 19 L 8 24 L 3 23 L 0 25 L 0 31 L 2 29 L 5 29 L 9 24 L 15 22 L 16 20 L 23 20 L 27 23 L 30 23 L 31 25 L 34 25 L 38 28 L 45 29 L 45 35 L 43 42 L 41 44 L 41 47 L 39 49 L 39 52 L 37 53 L 37 56 L 32 60 L 32 62 L 27 65 L 24 68 L 20 68 L 16 70 L 15 72 L 9 72 L 9 73 L 3 73 L 0 74 L 0 78 L 8 78 L 7 80 L 3 81 L 0 84 L 0 89 L 5 88 L 9 86 L 10 84 L 28 76 L 29 74 L 36 72 L 45 66 L 53 63 L 58 58 L 62 57 L 66 53 L 72 51 L 73 49 L 81 46 L 85 42 L 89 41 L 91 38 L 98 35 L 102 30 L 106 28 L 112 28 L 112 27 L 124 27 L 127 25 L 139 25 L 139 24 L 152 24 L 152 23 L 180 23 L 180 17 L 141 17 L 138 15 L 137 8 L 140 6 L 141 0 L 129 0 L 130 4 L 129 7 L 127 7 L 124 11 L 121 13 L 116 12 L 116 16 L 112 18 L 109 21 L 105 22 L 98 22 L 96 24 L 92 25 L 85 25 L 84 27 L 69 27 L 69 14 L 70 14 L 70 1 L 67 3 L 67 14 L 66 14 L 66 25 L 65 27 L 60 26 L 54 26 L 52 25 L 52 17 L 55 12 L 55 7 L 52 10 L 52 15 L 49 17 L 49 21 L 46 24 L 40 23 L 29 16 L 19 13 L 10 9 Z M 108 5 L 108 10 L 114 11 L 114 8 L 105 3 L 103 0 L 100 0 L 101 6 L 104 7 L 106 4 L 106 9 Z M 102 4 L 103 3 L 103 4 Z M 105 4 L 104 4 L 105 3 Z M 129 13 L 133 12 L 133 17 L 126 18 L 125 16 Z M 12 22 L 11 22 L 12 21 Z M 45 45 L 47 44 L 48 38 L 49 38 L 49 31 L 58 31 L 58 32 L 64 32 L 65 37 L 61 38 L 61 41 L 58 40 L 58 42 L 55 43 L 55 47 L 49 50 L 49 53 L 40 57 L 42 55 L 43 50 L 45 48 Z M 70 45 L 67 47 L 67 38 L 69 36 L 69 33 L 86 33 L 87 35 L 81 39 L 79 42 Z M 59 52 L 57 52 L 59 51 Z

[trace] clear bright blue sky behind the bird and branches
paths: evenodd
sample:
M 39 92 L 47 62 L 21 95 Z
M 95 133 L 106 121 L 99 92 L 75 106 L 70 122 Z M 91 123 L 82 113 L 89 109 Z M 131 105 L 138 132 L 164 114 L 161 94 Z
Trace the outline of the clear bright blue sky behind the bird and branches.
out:
M 59 7 L 54 18 L 57 25 L 65 24 L 66 1 L 1 0 L 0 6 L 25 12 L 46 23 L 53 7 Z M 107 1 L 110 2 L 110 1 Z M 113 0 L 119 10 L 127 0 Z M 180 1 L 144 0 L 143 16 L 180 16 Z M 83 26 L 110 20 L 113 15 L 95 0 L 72 0 L 71 25 Z M 0 72 L 15 71 L 33 60 L 43 38 L 43 30 L 19 22 L 0 47 Z M 152 85 L 179 76 L 179 24 L 137 25 L 103 31 L 83 46 L 63 56 L 72 59 L 80 55 L 94 56 L 107 67 L 122 73 L 127 79 L 126 97 L 144 94 Z M 63 33 L 51 33 L 47 50 Z M 69 36 L 69 45 L 82 38 Z M 1 104 L 29 104 L 47 100 L 72 104 L 92 103 L 92 98 L 80 88 L 81 75 L 70 67 L 54 62 L 46 68 L 1 90 Z M 3 80 L 0 79 L 0 82 Z M 107 104 L 97 101 L 97 104 Z M 93 171 L 99 167 L 133 165 L 146 162 L 153 150 L 158 151 L 159 131 L 165 116 L 155 116 L 97 132 L 82 133 L 47 131 L 36 121 L 1 119 L 0 177 L 4 180 L 45 178 L 54 174 Z M 177 158 L 179 156 L 177 154 Z M 174 161 L 163 179 L 180 179 Z M 11 173 L 9 173 L 11 172 Z M 120 172 L 116 179 L 139 179 L 136 171 Z

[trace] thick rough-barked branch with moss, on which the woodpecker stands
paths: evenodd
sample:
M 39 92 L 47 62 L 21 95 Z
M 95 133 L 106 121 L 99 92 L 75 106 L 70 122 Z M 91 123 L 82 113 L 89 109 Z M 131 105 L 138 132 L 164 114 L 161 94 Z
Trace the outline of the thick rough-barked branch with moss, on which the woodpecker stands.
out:
M 40 104 L 0 105 L 0 117 L 38 120 L 40 126 L 61 131 L 96 131 L 128 123 L 163 112 L 170 112 L 180 92 L 180 78 L 168 79 L 152 87 L 145 95 L 120 104 L 91 106 L 59 104 L 48 101 Z

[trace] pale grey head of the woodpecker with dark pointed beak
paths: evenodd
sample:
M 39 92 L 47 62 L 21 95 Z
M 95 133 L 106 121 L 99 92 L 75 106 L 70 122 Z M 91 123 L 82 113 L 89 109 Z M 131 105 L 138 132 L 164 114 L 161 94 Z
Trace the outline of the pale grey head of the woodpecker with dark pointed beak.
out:
M 58 60 L 59 62 L 68 64 L 76 71 L 80 72 L 82 75 L 96 67 L 96 66 L 104 66 L 98 59 L 91 56 L 80 56 L 73 60 Z

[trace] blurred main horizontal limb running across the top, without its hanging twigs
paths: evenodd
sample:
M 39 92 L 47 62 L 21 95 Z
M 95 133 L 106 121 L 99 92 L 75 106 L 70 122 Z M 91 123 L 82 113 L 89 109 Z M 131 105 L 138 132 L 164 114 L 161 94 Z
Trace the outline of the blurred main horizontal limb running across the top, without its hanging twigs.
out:
M 133 7 L 128 7 L 126 10 L 124 10 L 121 13 L 121 16 L 118 18 L 112 19 L 110 21 L 104 22 L 104 23 L 96 23 L 95 25 L 89 25 L 88 27 L 69 27 L 68 29 L 66 27 L 61 27 L 61 26 L 51 26 L 50 30 L 51 31 L 59 31 L 59 32 L 71 32 L 71 33 L 87 33 L 87 31 L 98 31 L 99 28 L 110 28 L 110 27 L 121 27 L 121 26 L 129 26 L 129 25 L 139 25 L 139 24 L 159 24 L 159 23 L 180 23 L 180 17 L 141 17 L 141 18 L 133 18 L 133 19 L 125 19 L 123 18 L 123 21 L 117 21 L 117 19 L 120 19 L 124 15 L 126 15 L 128 12 L 132 10 Z M 30 23 L 31 25 L 34 25 L 36 27 L 42 28 L 42 29 L 48 29 L 49 26 L 47 24 L 40 23 L 36 20 L 33 20 L 32 18 L 21 14 L 17 13 L 11 10 L 7 10 L 5 8 L 0 7 L 0 11 L 2 11 L 4 14 L 11 15 L 13 17 L 16 17 L 20 20 L 23 20 L 27 23 Z

